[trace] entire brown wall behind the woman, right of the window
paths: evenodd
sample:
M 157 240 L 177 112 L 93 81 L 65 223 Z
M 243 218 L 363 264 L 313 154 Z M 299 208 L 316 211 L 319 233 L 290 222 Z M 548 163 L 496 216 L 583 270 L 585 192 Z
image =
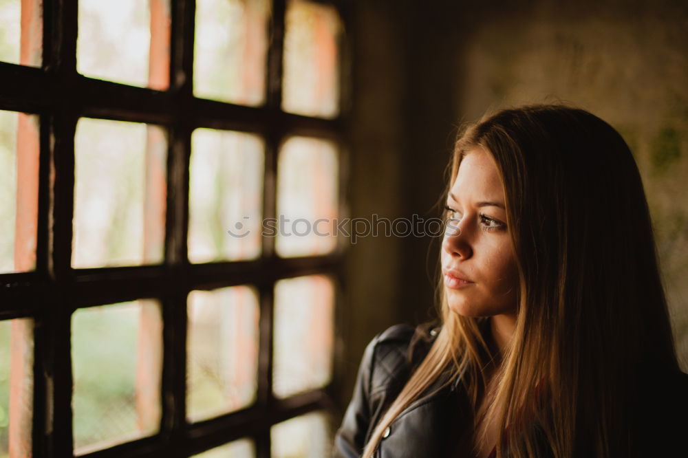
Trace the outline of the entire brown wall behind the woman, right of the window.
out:
M 688 3 L 361 0 L 351 25 L 351 216 L 437 216 L 456 128 L 488 109 L 588 109 L 622 133 L 641 169 L 688 369 Z M 429 318 L 438 242 L 350 246 L 345 399 L 374 334 Z

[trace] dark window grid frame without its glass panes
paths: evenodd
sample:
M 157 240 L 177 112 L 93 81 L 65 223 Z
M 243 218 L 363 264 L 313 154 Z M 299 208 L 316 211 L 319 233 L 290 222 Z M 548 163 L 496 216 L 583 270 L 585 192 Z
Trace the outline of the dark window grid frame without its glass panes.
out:
M 26 1 L 26 0 L 24 0 Z M 343 24 L 341 1 L 332 5 Z M 277 153 L 283 140 L 307 135 L 338 145 L 339 215 L 347 201 L 345 104 L 350 67 L 347 41 L 340 50 L 339 115 L 333 119 L 286 113 L 281 109 L 282 45 L 287 0 L 272 0 L 266 57 L 266 102 L 232 105 L 193 96 L 195 1 L 171 0 L 169 89 L 158 91 L 87 78 L 76 72 L 78 0 L 43 0 L 43 63 L 26 67 L 0 62 L 0 109 L 39 116 L 39 205 L 36 268 L 0 274 L 0 319 L 34 319 L 35 457 L 72 457 L 72 313 L 83 307 L 139 298 L 162 305 L 162 419 L 160 432 L 81 457 L 187 457 L 241 437 L 255 441 L 256 455 L 270 457 L 270 426 L 311 411 L 336 417 L 341 386 L 341 307 L 344 245 L 325 256 L 282 259 L 274 239 L 261 240 L 255 261 L 191 264 L 187 259 L 189 157 L 197 127 L 257 133 L 265 142 L 263 217 L 275 217 Z M 79 118 L 157 124 L 168 140 L 165 248 L 160 265 L 74 269 L 74 134 Z M 280 279 L 326 274 L 334 280 L 332 382 L 284 400 L 272 395 L 273 289 Z M 186 295 L 191 290 L 250 284 L 259 292 L 260 336 L 257 400 L 253 406 L 194 424 L 186 419 Z

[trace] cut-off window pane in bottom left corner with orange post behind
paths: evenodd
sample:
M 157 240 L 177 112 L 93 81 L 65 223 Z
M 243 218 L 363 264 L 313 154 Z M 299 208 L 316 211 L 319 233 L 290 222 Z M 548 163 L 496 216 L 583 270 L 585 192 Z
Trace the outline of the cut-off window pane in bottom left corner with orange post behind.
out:
M 30 457 L 34 323 L 0 321 L 0 457 Z

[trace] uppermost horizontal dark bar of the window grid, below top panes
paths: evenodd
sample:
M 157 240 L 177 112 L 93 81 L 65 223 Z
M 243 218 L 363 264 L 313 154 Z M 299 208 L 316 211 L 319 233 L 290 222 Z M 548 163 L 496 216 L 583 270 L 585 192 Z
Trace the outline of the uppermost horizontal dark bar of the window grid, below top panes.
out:
M 0 109 L 45 113 L 69 105 L 80 116 L 148 122 L 168 125 L 180 117 L 187 118 L 193 127 L 231 129 L 266 134 L 267 131 L 310 135 L 341 140 L 343 121 L 309 118 L 284 113 L 278 108 L 244 107 L 213 100 L 180 97 L 170 91 L 155 91 L 142 87 L 120 85 L 109 81 L 86 78 L 79 74 L 64 78 L 49 70 L 0 63 Z M 274 94 L 274 92 L 273 92 Z M 272 96 L 275 97 L 275 96 Z

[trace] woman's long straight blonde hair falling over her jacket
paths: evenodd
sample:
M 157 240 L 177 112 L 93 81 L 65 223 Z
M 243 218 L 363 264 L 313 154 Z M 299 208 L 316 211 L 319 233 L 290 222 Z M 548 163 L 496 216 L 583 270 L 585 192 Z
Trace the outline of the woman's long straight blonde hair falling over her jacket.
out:
M 560 105 L 506 109 L 467 127 L 462 157 L 491 153 L 504 184 L 519 270 L 515 333 L 499 359 L 484 415 L 498 425 L 497 457 L 634 456 L 627 404 L 641 371 L 678 371 L 652 225 L 638 168 L 619 133 Z M 442 329 L 375 426 L 383 432 L 440 374 L 459 378 L 477 419 L 495 355 L 480 322 L 449 310 Z M 484 430 L 477 431 L 484 441 Z

